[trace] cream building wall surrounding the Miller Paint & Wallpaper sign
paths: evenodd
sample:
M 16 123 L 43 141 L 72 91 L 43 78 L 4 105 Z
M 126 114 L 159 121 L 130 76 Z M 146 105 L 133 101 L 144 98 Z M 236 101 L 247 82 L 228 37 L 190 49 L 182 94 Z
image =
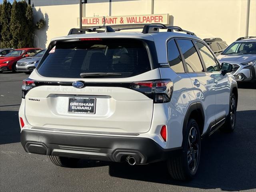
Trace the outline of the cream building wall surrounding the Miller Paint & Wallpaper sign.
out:
M 78 2 L 78 1 L 76 1 Z M 35 2 L 36 5 L 36 2 Z M 88 3 L 83 14 L 124 16 L 151 14 L 152 0 Z M 111 9 L 110 9 L 111 7 Z M 50 39 L 78 28 L 79 4 L 36 6 L 35 20 L 46 17 L 48 26 L 36 32 L 35 45 L 48 46 Z M 154 14 L 170 14 L 170 25 L 195 32 L 200 38 L 220 37 L 228 44 L 246 35 L 247 0 L 154 0 Z M 256 0 L 250 0 L 249 36 L 256 36 Z

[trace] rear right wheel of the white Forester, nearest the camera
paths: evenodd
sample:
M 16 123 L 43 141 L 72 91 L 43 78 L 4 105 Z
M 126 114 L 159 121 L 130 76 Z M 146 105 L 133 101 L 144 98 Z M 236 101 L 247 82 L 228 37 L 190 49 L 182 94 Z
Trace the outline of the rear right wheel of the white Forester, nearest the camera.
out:
M 193 136 L 195 139 L 193 139 Z M 182 154 L 167 160 L 170 176 L 175 180 L 191 180 L 198 170 L 200 152 L 201 135 L 199 127 L 194 119 L 190 119 L 185 131 Z

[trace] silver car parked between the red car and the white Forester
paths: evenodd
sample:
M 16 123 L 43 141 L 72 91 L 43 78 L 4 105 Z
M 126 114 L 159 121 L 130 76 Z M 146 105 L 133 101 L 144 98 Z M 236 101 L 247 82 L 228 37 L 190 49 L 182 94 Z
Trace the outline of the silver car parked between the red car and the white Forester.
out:
M 34 70 L 34 68 L 36 68 L 42 56 L 44 56 L 44 52 L 45 50 L 39 50 L 38 53 L 34 54 L 31 57 L 26 57 L 18 60 L 16 64 L 16 71 L 30 74 Z

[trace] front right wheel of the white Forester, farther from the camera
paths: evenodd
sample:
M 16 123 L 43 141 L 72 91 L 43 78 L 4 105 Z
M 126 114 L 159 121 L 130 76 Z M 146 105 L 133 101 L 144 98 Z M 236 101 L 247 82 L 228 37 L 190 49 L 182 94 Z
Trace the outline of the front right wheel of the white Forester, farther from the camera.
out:
M 236 96 L 234 93 L 232 93 L 230 98 L 230 104 L 229 104 L 229 112 L 228 116 L 226 118 L 226 122 L 224 126 L 220 128 L 220 131 L 230 133 L 235 130 L 236 127 L 236 107 L 237 107 L 237 101 Z

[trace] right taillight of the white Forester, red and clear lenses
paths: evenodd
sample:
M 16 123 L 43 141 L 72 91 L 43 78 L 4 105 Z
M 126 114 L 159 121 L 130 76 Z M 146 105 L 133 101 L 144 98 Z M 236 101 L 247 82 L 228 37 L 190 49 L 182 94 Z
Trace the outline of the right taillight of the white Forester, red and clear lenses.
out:
M 154 103 L 166 103 L 172 98 L 173 83 L 170 79 L 133 82 L 130 89 L 136 90 L 154 100 Z

